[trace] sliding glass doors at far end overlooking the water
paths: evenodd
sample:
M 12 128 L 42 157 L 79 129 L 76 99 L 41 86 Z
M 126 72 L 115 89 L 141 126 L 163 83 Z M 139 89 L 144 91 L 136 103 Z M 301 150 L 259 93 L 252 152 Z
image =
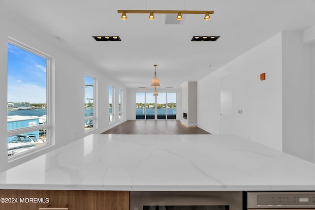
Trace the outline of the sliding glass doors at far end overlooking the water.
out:
M 136 92 L 136 120 L 176 120 L 176 92 Z

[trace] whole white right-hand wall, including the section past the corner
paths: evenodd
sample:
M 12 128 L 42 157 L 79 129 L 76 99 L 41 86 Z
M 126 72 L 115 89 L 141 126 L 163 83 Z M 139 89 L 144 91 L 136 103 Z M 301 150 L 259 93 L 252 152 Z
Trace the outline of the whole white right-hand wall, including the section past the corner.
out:
M 220 133 L 220 78 L 231 74 L 232 133 L 315 162 L 314 71 L 314 45 L 281 32 L 198 81 L 198 124 Z

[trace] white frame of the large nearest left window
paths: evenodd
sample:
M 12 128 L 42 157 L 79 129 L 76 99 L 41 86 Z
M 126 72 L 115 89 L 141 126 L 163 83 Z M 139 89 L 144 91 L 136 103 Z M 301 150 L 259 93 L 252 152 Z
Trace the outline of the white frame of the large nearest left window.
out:
M 19 152 L 15 155 L 8 156 L 8 162 L 11 162 L 16 159 L 20 159 L 22 157 L 25 157 L 27 155 L 30 155 L 34 152 L 37 152 L 39 150 L 43 150 L 47 147 L 50 147 L 53 145 L 54 141 L 52 139 L 53 134 L 52 134 L 52 127 L 53 127 L 53 82 L 54 82 L 54 68 L 55 68 L 55 59 L 44 53 L 41 52 L 40 50 L 37 50 L 27 44 L 24 44 L 16 39 L 13 39 L 12 37 L 8 37 L 8 44 L 12 44 L 18 48 L 21 48 L 25 51 L 28 51 L 34 55 L 37 55 L 39 57 L 42 57 L 46 59 L 46 124 L 41 124 L 41 125 L 34 125 L 31 127 L 23 127 L 23 128 L 16 128 L 16 129 L 11 129 L 7 130 L 7 138 L 10 136 L 14 135 L 23 135 L 24 133 L 29 133 L 37 130 L 45 130 L 46 129 L 46 144 L 42 145 L 38 148 L 32 148 L 31 150 L 26 150 Z M 9 69 L 7 69 L 8 71 Z M 8 85 L 8 84 L 7 84 Z

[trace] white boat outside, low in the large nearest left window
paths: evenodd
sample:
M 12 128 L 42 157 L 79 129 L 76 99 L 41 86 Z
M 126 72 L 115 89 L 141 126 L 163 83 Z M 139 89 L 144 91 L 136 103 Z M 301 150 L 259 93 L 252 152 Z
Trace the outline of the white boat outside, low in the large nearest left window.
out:
M 35 145 L 44 143 L 42 140 L 37 140 L 35 136 L 19 135 L 8 143 L 8 156 L 32 149 Z

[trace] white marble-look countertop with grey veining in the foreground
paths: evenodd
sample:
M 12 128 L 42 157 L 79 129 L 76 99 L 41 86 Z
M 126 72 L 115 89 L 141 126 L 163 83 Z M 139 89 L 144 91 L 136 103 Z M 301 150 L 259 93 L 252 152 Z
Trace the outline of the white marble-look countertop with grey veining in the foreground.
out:
M 0 173 L 0 189 L 315 190 L 315 164 L 235 135 L 90 135 Z

